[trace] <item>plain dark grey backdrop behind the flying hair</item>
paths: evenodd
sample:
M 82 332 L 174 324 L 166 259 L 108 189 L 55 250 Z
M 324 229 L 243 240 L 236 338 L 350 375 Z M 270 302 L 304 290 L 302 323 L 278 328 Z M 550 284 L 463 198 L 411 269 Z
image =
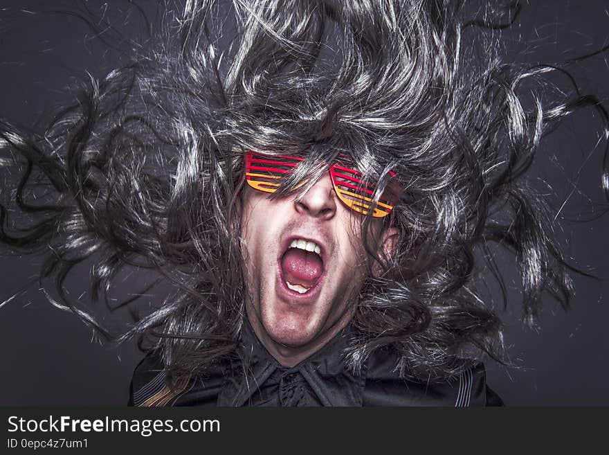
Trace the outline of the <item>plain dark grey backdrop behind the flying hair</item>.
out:
M 100 77 L 125 61 L 124 55 L 109 50 L 77 17 L 39 14 L 74 10 L 78 3 L 0 1 L 1 117 L 21 125 L 44 121 L 54 107 L 72 100 L 66 87 L 86 80 L 85 71 Z M 138 2 L 153 21 L 155 3 Z M 145 42 L 145 26 L 126 1 L 88 4 L 91 10 L 103 12 L 125 36 Z M 607 44 L 607 30 L 606 0 L 532 1 L 524 5 L 518 24 L 503 33 L 504 53 L 515 62 L 566 60 Z M 605 53 L 573 69 L 583 91 L 605 100 L 609 99 L 608 58 Z M 556 237 L 567 256 L 601 280 L 574 276 L 572 310 L 564 312 L 547 297 L 540 328 L 528 330 L 520 323 L 520 287 L 513 258 L 499 258 L 509 285 L 509 308 L 501 312 L 505 341 L 519 368 L 505 369 L 489 361 L 487 371 L 489 384 L 507 404 L 609 404 L 609 215 L 585 223 L 574 221 L 592 218 L 603 208 L 602 150 L 594 149 L 600 134 L 598 116 L 591 110 L 577 114 L 545 141 L 529 178 L 562 220 Z M 35 275 L 40 261 L 0 258 L 0 302 Z M 87 267 L 81 267 L 71 280 L 76 296 L 86 292 L 88 279 Z M 134 279 L 126 277 L 117 292 L 128 292 Z M 500 306 L 499 299 L 495 303 Z M 91 330 L 73 314 L 52 307 L 37 285 L 3 305 L 0 404 L 125 404 L 131 373 L 141 354 L 134 344 L 116 348 L 92 340 Z

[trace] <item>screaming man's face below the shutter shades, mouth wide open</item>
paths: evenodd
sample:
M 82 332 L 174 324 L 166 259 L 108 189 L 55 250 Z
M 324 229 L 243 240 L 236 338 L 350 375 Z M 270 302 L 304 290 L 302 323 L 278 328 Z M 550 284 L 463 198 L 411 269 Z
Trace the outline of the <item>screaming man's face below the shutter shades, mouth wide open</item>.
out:
M 349 322 L 369 273 L 362 215 L 338 200 L 329 175 L 299 196 L 270 199 L 247 187 L 242 210 L 248 319 L 288 366 Z M 382 222 L 372 224 L 381 230 Z

